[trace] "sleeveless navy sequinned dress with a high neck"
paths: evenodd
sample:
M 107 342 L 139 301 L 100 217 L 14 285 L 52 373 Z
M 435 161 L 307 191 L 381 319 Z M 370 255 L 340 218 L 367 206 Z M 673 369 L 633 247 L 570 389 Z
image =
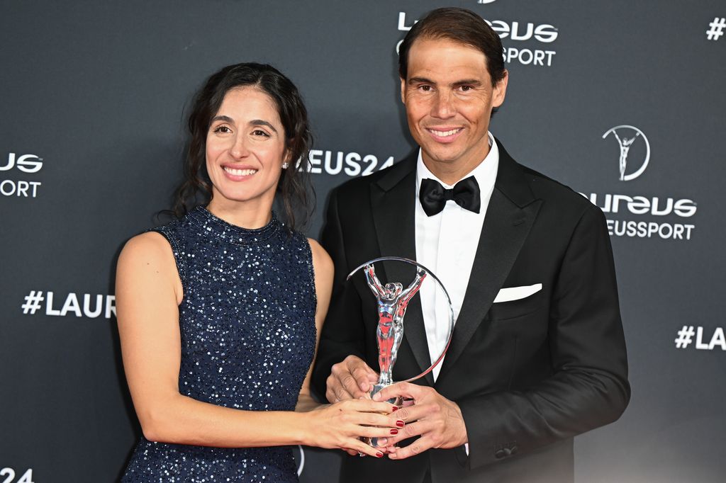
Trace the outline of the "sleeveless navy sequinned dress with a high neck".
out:
M 315 350 L 308 241 L 272 214 L 248 230 L 197 207 L 154 228 L 171 244 L 179 305 L 179 392 L 242 410 L 294 410 Z M 136 445 L 122 482 L 298 482 L 293 447 Z

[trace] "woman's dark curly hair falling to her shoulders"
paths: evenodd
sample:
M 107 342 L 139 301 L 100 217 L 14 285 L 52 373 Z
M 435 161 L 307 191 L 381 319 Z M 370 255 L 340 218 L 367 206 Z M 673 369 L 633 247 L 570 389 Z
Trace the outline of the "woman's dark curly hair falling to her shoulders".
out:
M 211 120 L 224 96 L 233 88 L 255 86 L 272 98 L 285 128 L 285 147 L 290 152 L 290 168 L 282 170 L 277 193 L 290 230 L 304 225 L 310 218 L 314 192 L 309 178 L 308 154 L 312 146 L 308 112 L 298 88 L 280 71 L 266 64 L 247 62 L 228 65 L 211 75 L 197 91 L 189 114 L 189 150 L 184 161 L 184 181 L 176 189 L 172 212 L 181 218 L 197 205 L 206 205 L 212 197 L 212 185 L 206 167 L 207 133 Z

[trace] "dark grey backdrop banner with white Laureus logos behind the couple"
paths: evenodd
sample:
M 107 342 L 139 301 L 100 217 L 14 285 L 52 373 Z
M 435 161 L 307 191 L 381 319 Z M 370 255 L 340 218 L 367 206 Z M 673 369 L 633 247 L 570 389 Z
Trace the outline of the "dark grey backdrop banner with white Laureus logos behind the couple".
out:
M 412 149 L 396 47 L 445 5 L 502 38 L 494 135 L 608 219 L 632 400 L 576 438 L 577 481 L 726 479 L 722 0 L 25 0 L 0 2 L 0 482 L 123 471 L 115 261 L 170 205 L 203 80 L 268 62 L 301 89 L 317 237 L 333 186 Z M 301 481 L 340 458 L 299 448 Z

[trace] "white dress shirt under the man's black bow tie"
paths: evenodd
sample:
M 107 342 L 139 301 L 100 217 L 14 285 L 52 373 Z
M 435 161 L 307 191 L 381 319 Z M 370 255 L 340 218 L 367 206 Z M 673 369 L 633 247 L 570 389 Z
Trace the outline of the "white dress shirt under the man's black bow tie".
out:
M 469 284 L 471 267 L 476 256 L 481 226 L 494 191 L 494 181 L 499 168 L 499 149 L 492 133 L 489 135 L 489 154 L 470 173 L 462 177 L 474 176 L 481 191 L 481 207 L 478 213 L 465 210 L 449 200 L 444 210 L 433 216 L 423 211 L 418 192 L 421 180 L 430 178 L 439 181 L 444 188 L 454 186 L 442 182 L 431 173 L 418 153 L 416 167 L 416 258 L 417 262 L 433 271 L 449 292 L 454 307 L 454 321 L 461 311 L 464 295 Z M 455 184 L 455 183 L 454 183 Z M 433 363 L 446 347 L 449 329 L 449 309 L 446 297 L 436 287 L 433 280 L 424 283 L 420 289 L 421 309 L 428 341 L 428 353 Z M 443 361 L 441 362 L 443 363 Z M 441 363 L 433 368 L 433 379 L 439 376 Z

